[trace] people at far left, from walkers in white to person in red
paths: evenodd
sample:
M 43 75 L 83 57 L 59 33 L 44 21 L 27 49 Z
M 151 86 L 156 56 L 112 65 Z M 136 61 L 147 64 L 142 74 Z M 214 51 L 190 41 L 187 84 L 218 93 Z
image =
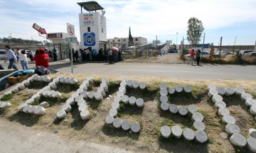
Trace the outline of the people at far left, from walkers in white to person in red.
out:
M 8 69 L 16 69 L 18 70 L 18 67 L 16 67 L 16 63 L 18 61 L 21 62 L 22 69 L 28 69 L 28 57 L 32 58 L 31 61 L 36 61 L 36 67 L 42 66 L 42 67 L 49 67 L 49 56 L 48 53 L 46 53 L 45 49 L 40 48 L 37 50 L 36 55 L 33 57 L 32 51 L 31 53 L 28 52 L 28 55 L 26 54 L 26 50 L 19 50 L 17 49 L 17 52 L 10 49 L 9 45 L 6 45 L 4 47 L 6 50 L 6 60 L 4 62 L 9 61 Z M 53 54 L 54 55 L 54 54 Z M 0 69 L 4 69 L 4 67 L 0 64 Z

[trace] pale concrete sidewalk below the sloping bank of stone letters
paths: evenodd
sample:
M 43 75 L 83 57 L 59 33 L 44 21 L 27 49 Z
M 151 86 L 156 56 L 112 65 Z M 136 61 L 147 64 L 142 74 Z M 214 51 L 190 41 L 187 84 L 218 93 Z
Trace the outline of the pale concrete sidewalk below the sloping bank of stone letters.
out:
M 15 125 L 14 125 L 15 124 Z M 99 145 L 92 142 L 71 141 L 50 132 L 31 130 L 31 128 L 0 121 L 1 153 L 82 153 L 82 152 L 118 152 L 126 150 Z

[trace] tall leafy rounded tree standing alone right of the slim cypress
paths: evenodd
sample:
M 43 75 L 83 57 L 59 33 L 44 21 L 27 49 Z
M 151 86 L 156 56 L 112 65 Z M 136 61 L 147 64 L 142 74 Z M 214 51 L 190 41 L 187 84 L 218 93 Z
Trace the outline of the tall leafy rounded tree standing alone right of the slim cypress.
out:
M 201 35 L 203 33 L 203 23 L 198 18 L 189 18 L 187 39 L 193 47 L 196 47 L 200 42 Z

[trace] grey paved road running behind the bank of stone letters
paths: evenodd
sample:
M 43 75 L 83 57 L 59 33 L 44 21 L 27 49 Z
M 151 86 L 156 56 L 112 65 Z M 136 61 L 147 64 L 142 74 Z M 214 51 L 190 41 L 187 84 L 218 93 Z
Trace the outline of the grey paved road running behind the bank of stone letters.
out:
M 4 67 L 7 67 L 7 64 L 4 64 Z M 35 67 L 35 63 L 29 62 L 28 67 Z M 50 62 L 50 67 L 63 73 L 71 72 L 68 60 Z M 21 69 L 19 63 L 18 68 Z M 255 65 L 202 64 L 191 66 L 188 64 L 83 62 L 75 63 L 73 72 L 74 74 L 134 75 L 173 79 L 256 79 L 255 70 Z

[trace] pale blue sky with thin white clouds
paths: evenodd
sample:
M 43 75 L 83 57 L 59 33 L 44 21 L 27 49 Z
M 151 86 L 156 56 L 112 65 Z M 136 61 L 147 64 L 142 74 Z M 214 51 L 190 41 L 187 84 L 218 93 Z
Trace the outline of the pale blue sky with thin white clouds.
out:
M 46 40 L 32 28 L 37 23 L 47 33 L 67 33 L 67 23 L 75 26 L 80 40 L 77 0 L 0 0 L 0 38 Z M 107 38 L 133 37 L 153 40 L 186 40 L 188 19 L 202 21 L 205 43 L 213 45 L 255 45 L 255 0 L 98 0 L 105 8 Z M 84 9 L 83 13 L 87 13 Z M 178 34 L 177 34 L 178 33 Z M 46 36 L 46 35 L 44 35 Z M 203 35 L 201 42 L 203 43 Z

